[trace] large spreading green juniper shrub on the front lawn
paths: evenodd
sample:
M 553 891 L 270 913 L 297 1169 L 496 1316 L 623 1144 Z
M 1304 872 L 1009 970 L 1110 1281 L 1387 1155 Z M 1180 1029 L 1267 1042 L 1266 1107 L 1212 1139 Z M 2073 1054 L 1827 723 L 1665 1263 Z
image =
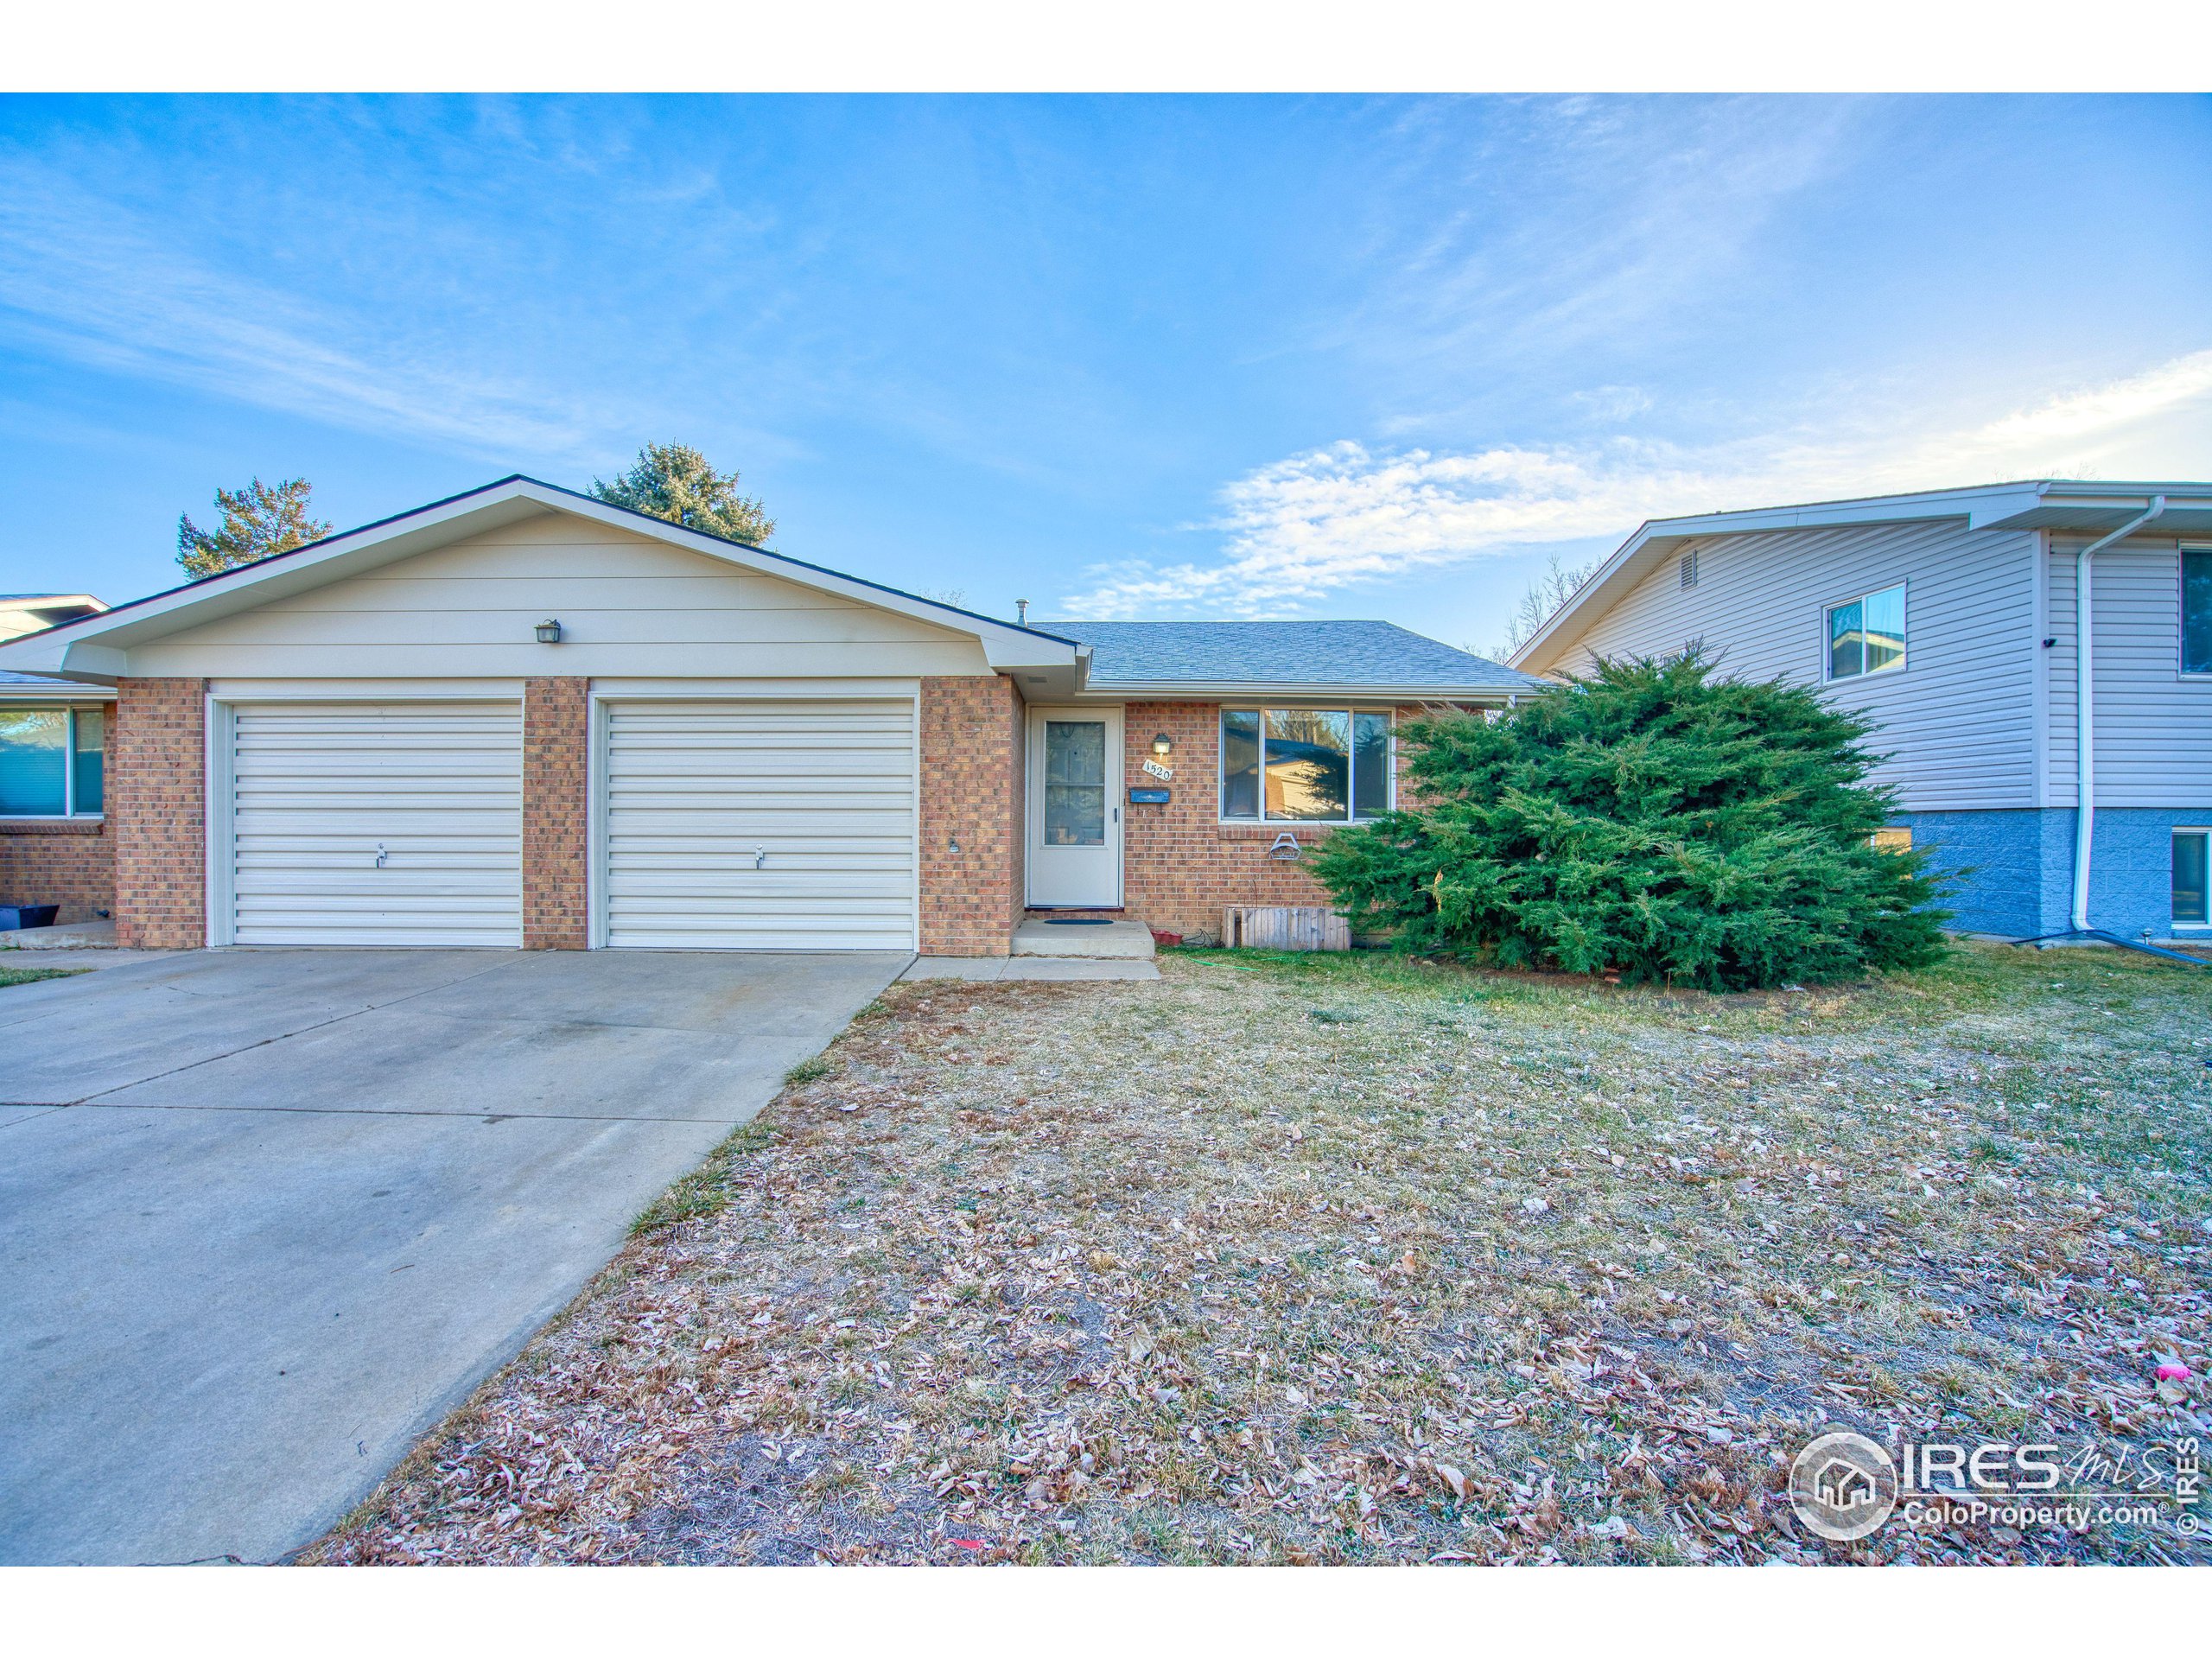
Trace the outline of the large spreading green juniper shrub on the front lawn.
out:
M 1345 827 L 1312 872 L 1358 931 L 1425 956 L 1705 991 L 1942 956 L 1924 852 L 1871 845 L 1874 723 L 1697 650 L 1484 717 L 1398 728 L 1418 805 Z

